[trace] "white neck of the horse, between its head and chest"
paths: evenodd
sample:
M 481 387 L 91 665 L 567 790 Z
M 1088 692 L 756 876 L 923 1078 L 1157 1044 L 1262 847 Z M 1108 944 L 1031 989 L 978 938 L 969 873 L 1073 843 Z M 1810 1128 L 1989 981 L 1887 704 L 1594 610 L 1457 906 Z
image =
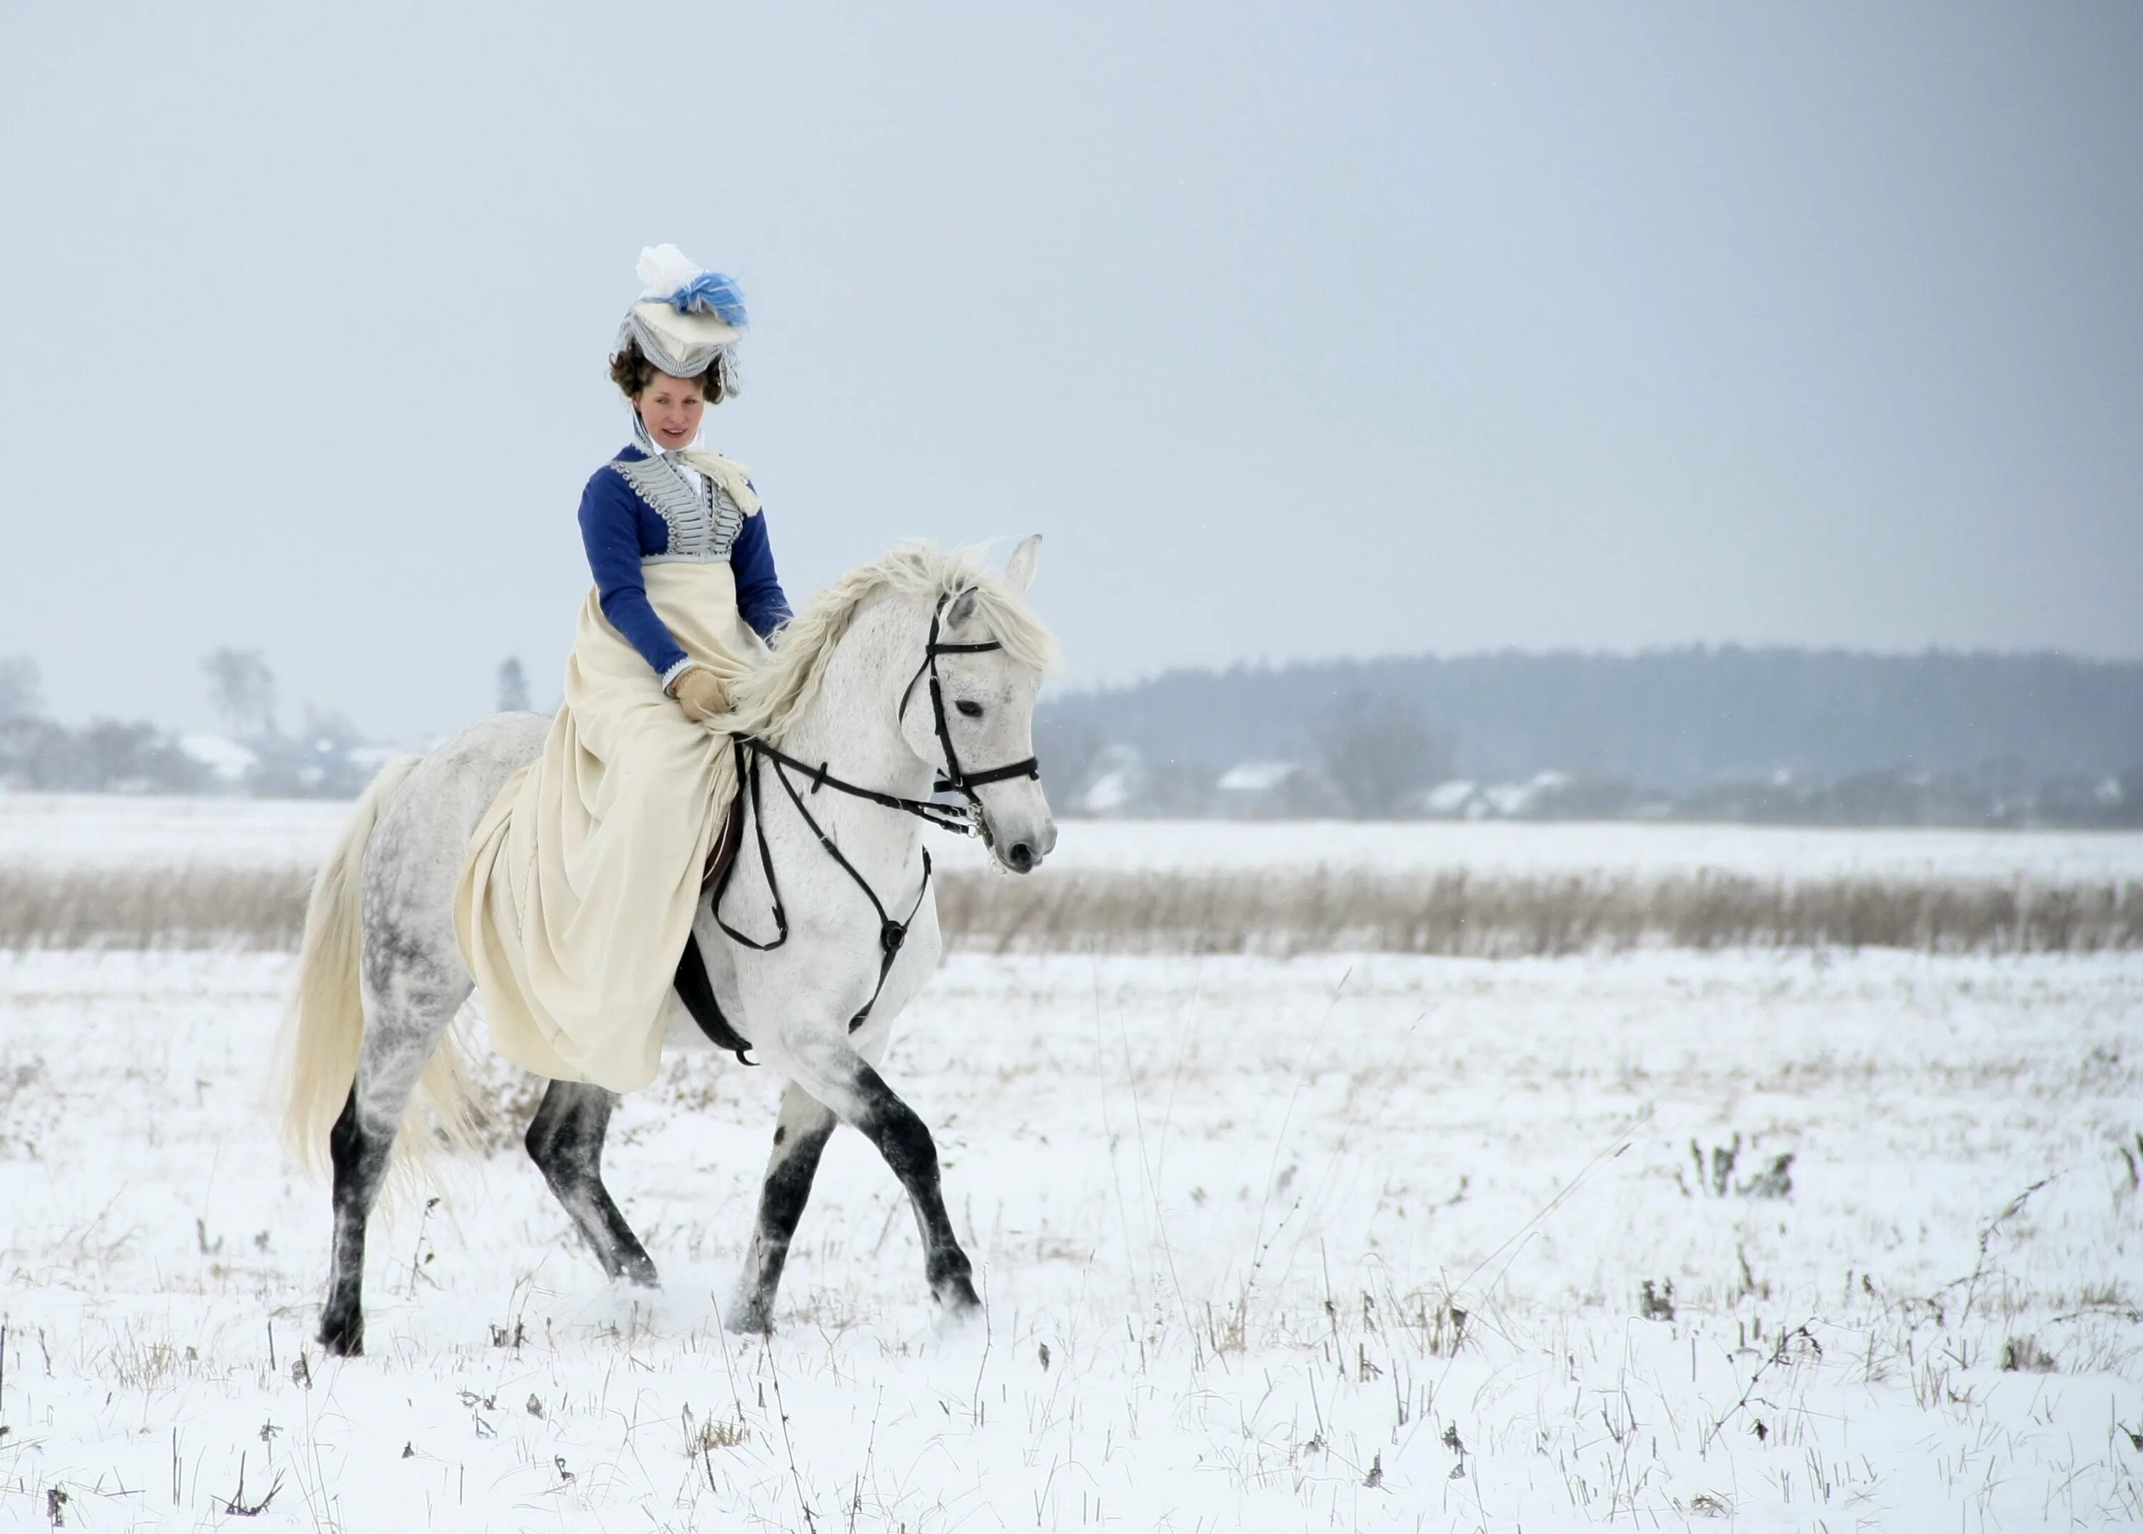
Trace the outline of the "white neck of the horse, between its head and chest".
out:
M 827 660 L 819 696 L 797 716 L 780 748 L 804 763 L 825 763 L 827 773 L 857 788 L 904 799 L 928 799 L 932 769 L 900 739 L 900 688 L 921 662 L 921 628 L 904 602 L 874 602 L 855 615 Z M 911 641 L 913 630 L 913 643 Z M 909 653 L 913 649 L 915 653 Z M 924 701 L 928 707 L 928 698 Z M 791 778 L 797 776 L 791 771 Z M 851 859 L 870 859 L 879 874 L 904 866 L 921 836 L 921 821 L 855 795 L 825 788 L 816 795 L 797 780 L 812 816 L 831 831 Z M 767 784 L 776 801 L 786 799 Z M 782 816 L 771 816 L 780 821 Z M 857 863 L 861 868 L 861 863 Z M 866 870 L 870 872 L 870 870 Z

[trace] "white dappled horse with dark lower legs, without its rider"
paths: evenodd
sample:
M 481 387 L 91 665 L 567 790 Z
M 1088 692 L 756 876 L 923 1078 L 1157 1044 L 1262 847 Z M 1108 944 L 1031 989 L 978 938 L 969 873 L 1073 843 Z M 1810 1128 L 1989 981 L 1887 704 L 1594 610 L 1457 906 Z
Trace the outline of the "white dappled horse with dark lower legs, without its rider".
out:
M 763 743 L 739 748 L 756 791 L 739 784 L 739 851 L 701 898 L 679 968 L 694 1005 L 671 1009 L 664 1050 L 739 1035 L 786 1078 L 731 1330 L 771 1328 L 789 1238 L 836 1123 L 864 1131 L 906 1189 L 936 1303 L 977 1305 L 936 1146 L 876 1065 L 941 953 L 921 848 L 932 788 L 964 793 L 962 810 L 1011 872 L 1056 844 L 1033 763 L 1052 643 L 1022 596 L 1039 542 L 1020 542 L 1001 576 L 932 548 L 855 570 L 789 626 L 722 720 Z M 281 1071 L 289 1142 L 313 1161 L 326 1144 L 334 1168 L 319 1320 L 332 1354 L 364 1348 L 364 1223 L 405 1114 L 411 1131 L 424 1110 L 450 1131 L 469 1121 L 450 1035 L 474 988 L 454 881 L 478 818 L 542 752 L 546 728 L 540 716 L 501 713 L 386 767 L 313 887 Z M 602 1185 L 615 1103 L 600 1086 L 551 1082 L 527 1150 L 604 1270 L 654 1285 L 654 1262 Z

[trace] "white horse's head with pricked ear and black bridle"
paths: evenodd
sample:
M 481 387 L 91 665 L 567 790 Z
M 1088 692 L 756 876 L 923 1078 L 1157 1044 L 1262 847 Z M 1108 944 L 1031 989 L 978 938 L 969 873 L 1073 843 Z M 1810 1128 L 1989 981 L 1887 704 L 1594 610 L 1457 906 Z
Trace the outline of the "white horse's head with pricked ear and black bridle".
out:
M 1026 611 L 1041 536 L 1020 540 L 1001 576 L 945 593 L 921 671 L 902 698 L 909 748 L 975 806 L 1001 868 L 1026 874 L 1056 846 L 1035 765 L 1035 692 L 1048 632 Z

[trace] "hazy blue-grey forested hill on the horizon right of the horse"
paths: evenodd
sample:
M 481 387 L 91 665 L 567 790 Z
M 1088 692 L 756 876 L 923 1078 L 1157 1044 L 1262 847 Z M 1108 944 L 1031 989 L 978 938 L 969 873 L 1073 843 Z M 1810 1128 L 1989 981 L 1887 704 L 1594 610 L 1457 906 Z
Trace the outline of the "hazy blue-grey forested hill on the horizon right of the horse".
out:
M 2143 765 L 2143 662 L 2053 653 L 1871 656 L 1691 647 L 1637 656 L 1517 653 L 1170 671 L 1046 696 L 1039 733 L 1087 754 L 1219 773 L 1320 761 L 1318 720 L 1369 698 L 1423 720 L 1438 776 L 1543 771 L 1691 793 L 1864 773 L 2025 788 Z

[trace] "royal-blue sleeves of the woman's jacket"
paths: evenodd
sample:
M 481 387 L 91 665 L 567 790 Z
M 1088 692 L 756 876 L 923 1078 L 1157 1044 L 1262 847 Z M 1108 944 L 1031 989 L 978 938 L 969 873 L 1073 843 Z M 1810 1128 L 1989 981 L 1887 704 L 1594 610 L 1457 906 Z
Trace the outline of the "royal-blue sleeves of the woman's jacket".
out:
M 647 454 L 628 446 L 617 456 L 634 461 Z M 587 568 L 596 576 L 596 593 L 611 628 L 632 641 L 656 675 L 669 675 L 686 653 L 647 602 L 641 559 L 673 553 L 671 525 L 609 463 L 596 469 L 581 491 L 581 544 L 587 548 Z M 767 638 L 789 621 L 791 611 L 774 574 L 765 512 L 744 518 L 729 546 L 729 566 L 737 578 L 737 613 Z

